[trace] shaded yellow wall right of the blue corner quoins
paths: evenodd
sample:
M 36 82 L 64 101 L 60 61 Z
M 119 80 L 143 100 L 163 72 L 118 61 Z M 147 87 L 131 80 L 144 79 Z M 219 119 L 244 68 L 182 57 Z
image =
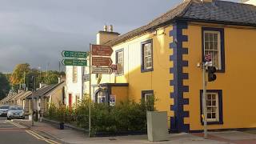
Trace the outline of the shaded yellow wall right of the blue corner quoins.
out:
M 206 25 L 203 25 L 206 26 Z M 207 26 L 206 26 L 207 27 Z M 184 32 L 183 32 L 184 33 Z M 202 89 L 202 70 L 197 63 L 202 61 L 202 26 L 188 26 L 189 41 L 187 45 L 189 54 L 189 94 L 190 130 L 202 130 L 200 122 L 200 95 Z M 236 29 L 224 27 L 225 34 L 225 62 L 226 72 L 217 73 L 215 82 L 208 82 L 208 90 L 222 90 L 223 125 L 210 125 L 209 129 L 230 129 L 256 127 L 256 97 L 254 87 L 256 81 L 255 38 L 256 30 Z

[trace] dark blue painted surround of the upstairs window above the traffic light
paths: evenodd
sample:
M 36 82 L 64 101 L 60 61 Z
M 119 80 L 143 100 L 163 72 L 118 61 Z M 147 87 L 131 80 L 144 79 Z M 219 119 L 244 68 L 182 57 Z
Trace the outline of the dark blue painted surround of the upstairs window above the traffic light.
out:
M 216 40 L 217 38 L 214 38 L 214 36 L 217 36 L 216 34 L 214 34 L 214 36 L 212 38 L 209 38 L 208 40 L 206 39 L 207 36 L 205 36 L 205 32 L 218 32 L 219 33 L 219 37 L 218 41 L 220 42 L 216 42 L 214 43 L 214 39 Z M 212 36 L 212 35 L 211 35 Z M 204 54 L 205 54 L 205 40 L 210 41 L 209 42 L 209 47 L 219 47 L 218 50 L 218 60 L 220 60 L 220 62 L 218 62 L 218 64 L 220 65 L 217 72 L 218 73 L 224 73 L 225 72 L 225 39 L 224 39 L 224 29 L 223 28 L 212 28 L 212 27 L 202 27 L 202 61 L 204 60 Z M 219 54 L 220 53 L 220 54 Z M 216 54 L 217 55 L 217 54 Z M 216 63 L 216 62 L 215 62 Z

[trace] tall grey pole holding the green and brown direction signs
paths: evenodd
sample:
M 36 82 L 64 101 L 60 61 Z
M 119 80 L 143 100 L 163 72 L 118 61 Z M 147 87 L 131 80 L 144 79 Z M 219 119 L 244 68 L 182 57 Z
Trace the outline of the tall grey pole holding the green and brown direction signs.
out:
M 89 52 L 89 77 L 90 77 L 90 80 L 89 80 L 89 137 L 91 136 L 90 135 L 90 100 L 91 100 L 91 53 L 92 53 L 92 50 L 91 50 L 91 44 L 90 44 L 90 52 Z

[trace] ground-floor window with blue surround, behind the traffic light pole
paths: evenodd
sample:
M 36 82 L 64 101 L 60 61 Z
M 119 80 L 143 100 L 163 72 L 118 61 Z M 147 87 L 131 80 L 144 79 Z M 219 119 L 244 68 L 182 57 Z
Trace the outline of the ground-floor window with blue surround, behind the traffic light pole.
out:
M 202 90 L 201 90 L 201 114 L 203 114 L 202 106 Z M 206 90 L 206 118 L 207 123 L 222 124 L 222 90 Z M 201 118 L 201 122 L 203 119 Z

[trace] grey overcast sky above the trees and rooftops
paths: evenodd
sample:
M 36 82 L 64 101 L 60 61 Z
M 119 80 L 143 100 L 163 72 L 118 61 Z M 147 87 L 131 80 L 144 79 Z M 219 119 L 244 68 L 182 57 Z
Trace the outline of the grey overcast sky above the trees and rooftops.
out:
M 103 25 L 124 34 L 182 0 L 0 0 L 0 72 L 58 70 L 62 50 L 88 50 Z

